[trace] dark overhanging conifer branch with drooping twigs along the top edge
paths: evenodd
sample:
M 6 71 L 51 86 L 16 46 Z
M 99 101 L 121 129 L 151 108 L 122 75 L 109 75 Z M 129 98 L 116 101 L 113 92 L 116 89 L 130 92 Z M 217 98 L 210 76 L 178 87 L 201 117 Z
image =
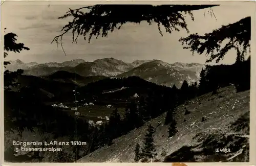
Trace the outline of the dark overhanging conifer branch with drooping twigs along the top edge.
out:
M 147 21 L 149 25 L 155 22 L 161 35 L 163 34 L 160 25 L 165 28 L 167 33 L 180 31 L 180 29 L 189 32 L 185 22 L 186 16 L 183 14 L 188 14 L 194 20 L 191 11 L 214 6 L 218 5 L 94 5 L 70 9 L 59 19 L 72 17 L 73 20 L 62 28 L 63 33 L 55 36 L 52 43 L 55 41 L 62 47 L 62 37 L 69 31 L 73 34 L 73 42 L 77 42 L 79 35 L 86 40 L 86 35 L 89 34 L 89 42 L 92 36 L 96 36 L 96 39 L 100 35 L 108 37 L 109 32 L 113 32 L 115 29 L 119 30 L 127 22 Z M 210 9 L 210 13 L 213 13 L 212 9 Z

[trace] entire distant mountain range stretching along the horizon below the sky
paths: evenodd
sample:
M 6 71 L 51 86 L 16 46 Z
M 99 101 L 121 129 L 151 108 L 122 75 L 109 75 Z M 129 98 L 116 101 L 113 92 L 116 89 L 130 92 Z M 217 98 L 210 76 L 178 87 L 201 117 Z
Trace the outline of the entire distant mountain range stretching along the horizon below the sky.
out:
M 56 72 L 65 71 L 66 73 L 74 73 L 81 77 L 130 77 L 138 76 L 146 81 L 156 83 L 158 85 L 180 87 L 184 80 L 188 84 L 193 84 L 200 80 L 200 72 L 204 67 L 199 63 L 180 63 L 169 64 L 161 60 L 135 60 L 132 63 L 125 63 L 114 58 L 97 59 L 93 62 L 86 62 L 83 59 L 75 59 L 62 63 L 49 62 L 38 64 L 36 62 L 24 63 L 20 60 L 10 61 L 6 69 L 15 71 L 24 69 L 24 75 L 32 75 L 37 77 L 49 77 Z M 61 77 L 65 77 L 61 73 Z M 78 77 L 79 77 L 78 76 Z M 60 78 L 58 78 L 60 79 Z M 61 80 L 65 80 L 62 78 Z M 83 79 L 80 79 L 83 80 Z M 82 82 L 80 81 L 80 84 Z

